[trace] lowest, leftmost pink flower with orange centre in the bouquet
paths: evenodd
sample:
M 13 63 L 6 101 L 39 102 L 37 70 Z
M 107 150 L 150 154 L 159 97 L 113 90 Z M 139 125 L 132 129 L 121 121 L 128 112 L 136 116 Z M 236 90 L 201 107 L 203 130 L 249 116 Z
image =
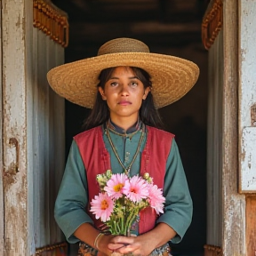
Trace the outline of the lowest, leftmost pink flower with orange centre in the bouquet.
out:
M 101 219 L 103 222 L 110 220 L 114 203 L 107 194 L 100 193 L 99 196 L 94 196 L 91 205 L 90 212 L 95 214 L 96 219 Z

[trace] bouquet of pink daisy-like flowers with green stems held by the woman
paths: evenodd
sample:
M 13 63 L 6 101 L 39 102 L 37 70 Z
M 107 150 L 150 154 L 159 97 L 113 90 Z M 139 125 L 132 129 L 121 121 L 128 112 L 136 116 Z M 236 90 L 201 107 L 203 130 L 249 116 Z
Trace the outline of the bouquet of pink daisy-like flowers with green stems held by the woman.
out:
M 130 178 L 108 170 L 97 175 L 100 194 L 92 199 L 90 211 L 106 224 L 112 235 L 129 236 L 132 223 L 146 207 L 154 208 L 156 214 L 164 212 L 163 191 L 146 174 L 144 178 L 139 175 Z

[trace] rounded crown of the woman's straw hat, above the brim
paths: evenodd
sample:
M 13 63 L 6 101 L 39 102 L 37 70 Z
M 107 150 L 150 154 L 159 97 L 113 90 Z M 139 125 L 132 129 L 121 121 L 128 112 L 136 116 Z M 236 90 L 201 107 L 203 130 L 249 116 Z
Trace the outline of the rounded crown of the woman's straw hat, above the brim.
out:
M 98 56 L 118 52 L 149 52 L 147 44 L 132 38 L 116 38 L 100 46 Z

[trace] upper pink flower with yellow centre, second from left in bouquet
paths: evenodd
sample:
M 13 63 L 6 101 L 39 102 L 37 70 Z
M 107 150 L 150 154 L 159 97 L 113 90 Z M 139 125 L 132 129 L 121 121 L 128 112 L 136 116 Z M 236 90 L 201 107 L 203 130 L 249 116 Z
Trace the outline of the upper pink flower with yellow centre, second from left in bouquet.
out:
M 111 198 L 118 199 L 123 196 L 125 182 L 129 181 L 128 177 L 124 173 L 113 174 L 111 179 L 108 180 L 107 186 L 104 190 L 108 193 L 108 196 L 111 196 Z

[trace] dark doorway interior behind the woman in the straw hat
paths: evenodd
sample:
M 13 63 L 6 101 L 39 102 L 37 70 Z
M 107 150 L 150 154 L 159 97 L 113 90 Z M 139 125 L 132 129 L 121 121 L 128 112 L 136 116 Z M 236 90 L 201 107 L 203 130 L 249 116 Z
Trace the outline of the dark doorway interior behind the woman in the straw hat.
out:
M 206 123 L 208 54 L 201 40 L 205 0 L 54 0 L 68 13 L 69 44 L 65 62 L 97 55 L 101 44 L 132 37 L 148 44 L 150 52 L 196 62 L 200 76 L 181 100 L 160 108 L 165 130 L 176 135 L 194 202 L 194 216 L 173 255 L 204 255 L 206 243 Z M 66 152 L 72 137 L 82 131 L 88 109 L 66 101 Z M 76 244 L 70 255 L 76 255 Z

